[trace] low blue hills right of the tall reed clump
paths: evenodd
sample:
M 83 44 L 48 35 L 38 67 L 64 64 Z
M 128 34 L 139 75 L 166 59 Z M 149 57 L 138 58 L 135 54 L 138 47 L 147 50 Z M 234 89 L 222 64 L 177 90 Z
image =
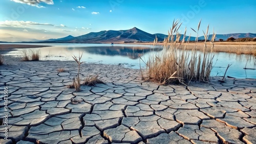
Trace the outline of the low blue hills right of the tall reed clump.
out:
M 208 40 L 211 39 L 212 35 L 209 35 Z M 234 33 L 234 34 L 216 34 L 215 40 L 223 39 L 227 40 L 227 38 L 233 37 L 233 38 L 254 38 L 256 37 L 256 34 L 252 33 Z M 199 37 L 198 39 L 204 40 L 204 36 Z

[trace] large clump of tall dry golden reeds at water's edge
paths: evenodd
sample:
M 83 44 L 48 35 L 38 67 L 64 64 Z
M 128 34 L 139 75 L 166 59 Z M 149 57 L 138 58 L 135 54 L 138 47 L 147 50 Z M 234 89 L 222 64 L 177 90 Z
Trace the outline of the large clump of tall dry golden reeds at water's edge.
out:
M 201 20 L 198 24 L 197 39 L 194 49 L 187 51 L 186 46 L 181 49 L 181 45 L 185 42 L 186 29 L 184 37 L 178 32 L 181 26 L 179 21 L 174 21 L 172 28 L 168 31 L 168 37 L 163 41 L 163 50 L 161 52 L 152 53 L 146 63 L 146 74 L 148 80 L 159 82 L 160 84 L 182 83 L 189 84 L 191 81 L 209 81 L 210 71 L 212 69 L 212 51 L 214 50 L 215 33 L 210 40 L 210 46 L 206 44 L 208 39 L 208 29 L 204 33 L 203 52 L 197 51 L 198 31 Z M 189 38 L 186 40 L 189 42 Z M 157 40 L 155 41 L 157 42 Z

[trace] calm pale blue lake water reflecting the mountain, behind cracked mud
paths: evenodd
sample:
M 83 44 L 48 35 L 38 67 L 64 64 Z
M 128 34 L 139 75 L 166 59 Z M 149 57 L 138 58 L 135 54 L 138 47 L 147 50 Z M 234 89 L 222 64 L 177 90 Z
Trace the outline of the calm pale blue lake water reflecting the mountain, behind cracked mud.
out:
M 7 43 L 3 43 L 7 44 Z M 16 44 L 16 43 L 12 43 Z M 146 60 L 154 51 L 161 51 L 153 45 L 136 44 L 87 44 L 87 43 L 17 43 L 32 45 L 52 45 L 50 47 L 35 48 L 40 50 L 41 60 L 73 60 L 72 56 L 83 53 L 82 60 L 87 63 L 121 64 L 124 67 L 140 68 L 140 59 Z M 6 55 L 19 56 L 22 49 L 16 49 Z M 246 64 L 247 63 L 247 64 Z M 243 69 L 256 68 L 256 58 L 251 55 L 237 55 L 228 53 L 215 53 L 214 68 L 211 76 L 223 76 L 228 64 L 232 64 L 226 76 L 234 78 L 256 79 L 256 70 Z M 141 61 L 141 66 L 145 64 Z

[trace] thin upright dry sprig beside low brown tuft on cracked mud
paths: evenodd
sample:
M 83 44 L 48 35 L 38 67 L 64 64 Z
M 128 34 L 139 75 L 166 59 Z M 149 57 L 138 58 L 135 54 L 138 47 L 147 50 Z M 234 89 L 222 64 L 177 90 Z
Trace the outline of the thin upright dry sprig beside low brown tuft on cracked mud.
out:
M 68 88 L 75 88 L 76 91 L 80 91 L 80 90 L 81 90 L 81 89 L 80 89 L 81 84 L 80 84 L 79 74 L 80 74 L 80 66 L 81 66 L 81 64 L 83 63 L 83 62 L 80 61 L 81 58 L 82 58 L 82 54 L 81 54 L 81 56 L 80 56 L 80 52 L 79 52 L 78 59 L 77 59 L 76 56 L 72 56 L 72 57 L 73 57 L 73 59 L 76 61 L 76 63 L 78 64 L 78 71 L 77 71 L 77 76 L 76 76 L 76 78 L 73 79 L 73 84 L 69 85 Z

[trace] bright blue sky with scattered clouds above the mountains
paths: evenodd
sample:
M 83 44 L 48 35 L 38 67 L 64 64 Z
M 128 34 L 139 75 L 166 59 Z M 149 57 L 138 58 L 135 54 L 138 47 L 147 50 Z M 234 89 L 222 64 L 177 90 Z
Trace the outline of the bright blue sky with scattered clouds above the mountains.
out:
M 217 34 L 256 33 L 256 1 L 151 1 L 151 0 L 1 0 L 2 37 L 36 39 L 79 36 L 102 30 L 137 27 L 148 33 L 163 33 L 174 19 L 183 22 L 181 30 L 196 35 L 210 25 Z

